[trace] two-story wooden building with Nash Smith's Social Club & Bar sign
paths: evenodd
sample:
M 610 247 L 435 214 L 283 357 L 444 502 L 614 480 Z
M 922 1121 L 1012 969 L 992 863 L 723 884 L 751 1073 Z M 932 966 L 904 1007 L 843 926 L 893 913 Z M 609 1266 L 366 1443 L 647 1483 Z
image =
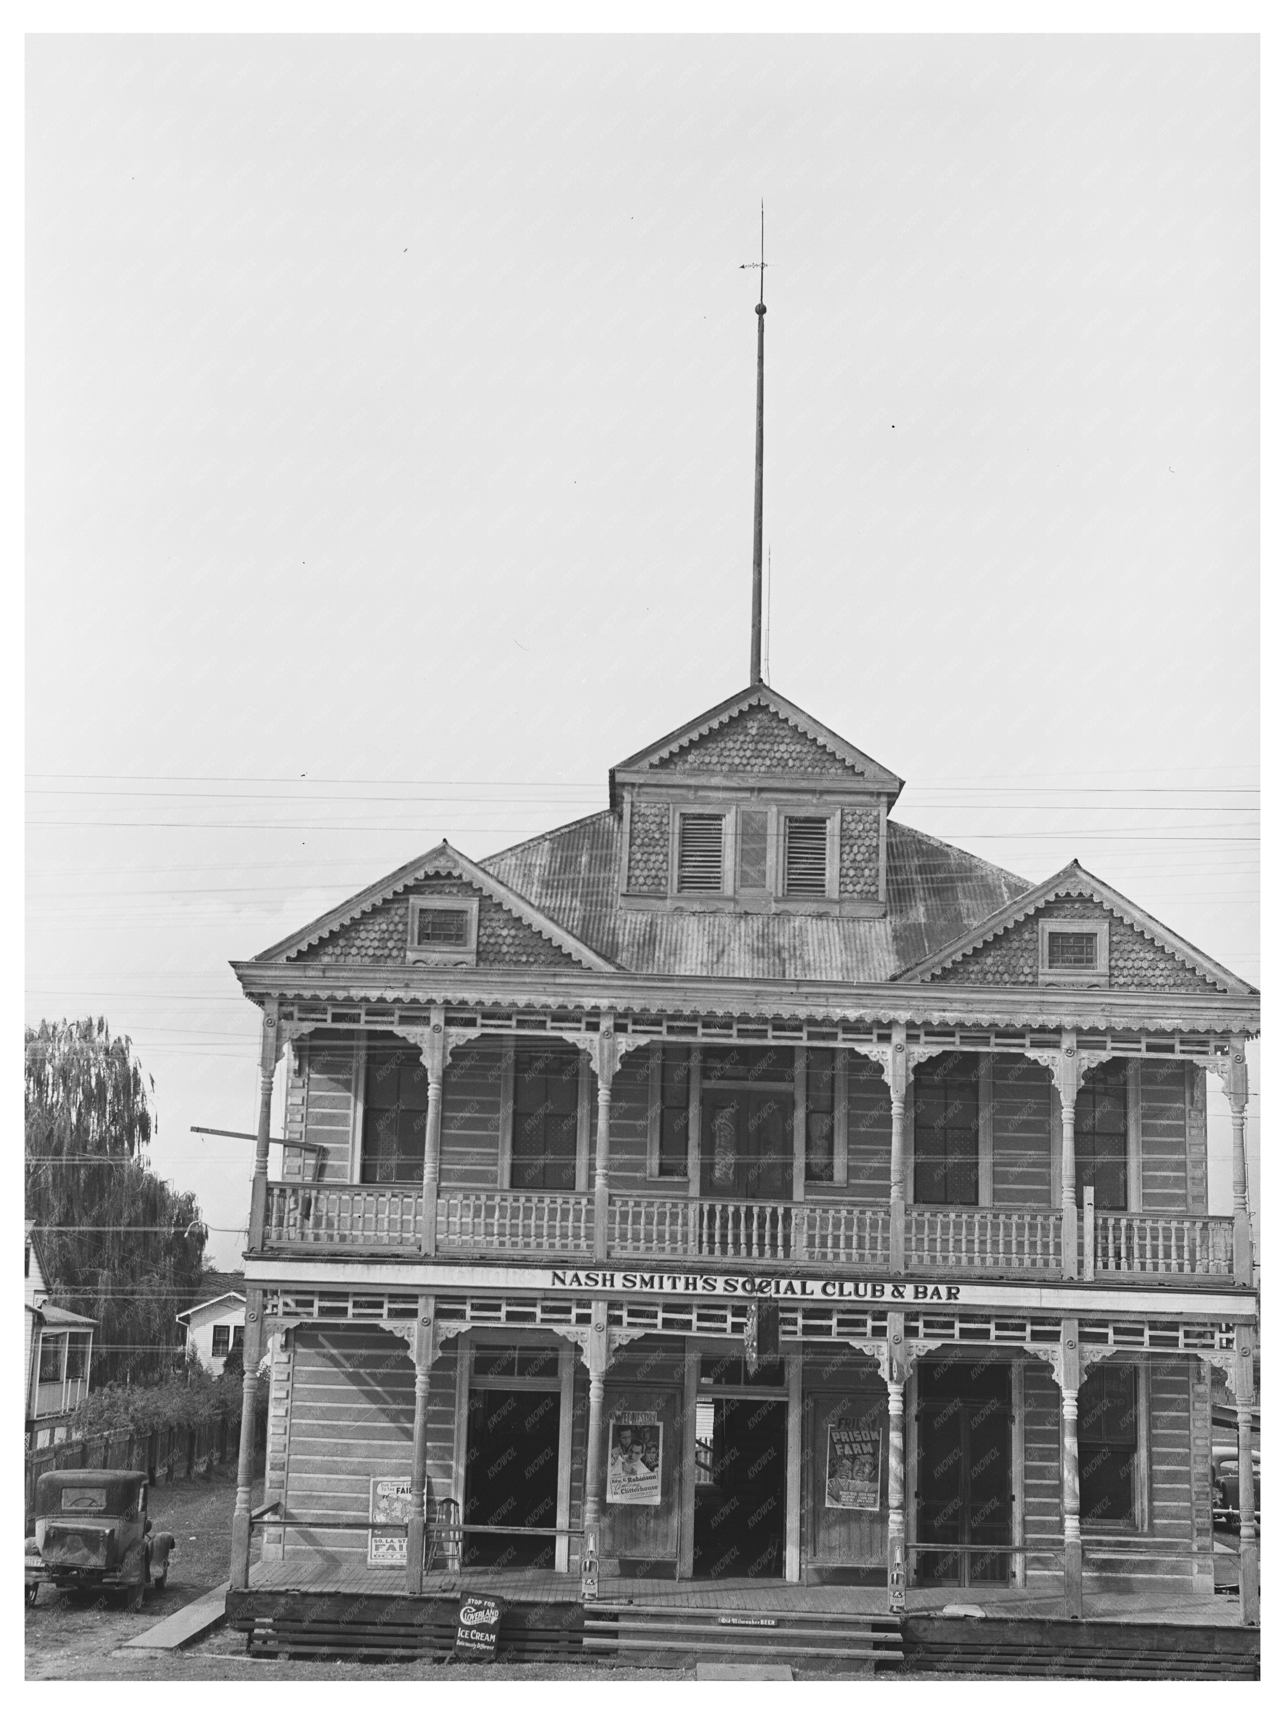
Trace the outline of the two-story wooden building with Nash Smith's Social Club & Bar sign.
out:
M 917 833 L 900 790 L 756 682 L 601 812 L 485 864 L 439 845 L 235 965 L 262 1010 L 247 1387 L 283 1337 L 233 1591 L 252 1561 L 893 1611 L 1213 1591 L 1258 994 L 1076 862 L 1031 886 Z M 1252 1623 L 1249 1508 L 1240 1551 Z

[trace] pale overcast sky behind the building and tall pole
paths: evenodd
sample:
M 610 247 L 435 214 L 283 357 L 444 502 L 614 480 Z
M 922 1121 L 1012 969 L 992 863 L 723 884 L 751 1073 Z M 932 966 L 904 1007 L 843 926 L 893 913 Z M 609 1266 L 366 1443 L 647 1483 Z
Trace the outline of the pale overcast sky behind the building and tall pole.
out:
M 31 39 L 27 1018 L 221 1263 L 228 960 L 745 684 L 761 197 L 771 682 L 1258 982 L 1258 192 L 1249 36 Z

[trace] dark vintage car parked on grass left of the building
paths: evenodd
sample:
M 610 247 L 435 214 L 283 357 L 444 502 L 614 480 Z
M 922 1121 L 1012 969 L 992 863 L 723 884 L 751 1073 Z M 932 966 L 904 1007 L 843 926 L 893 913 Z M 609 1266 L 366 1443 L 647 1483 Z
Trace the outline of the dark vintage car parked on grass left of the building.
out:
M 142 1471 L 45 1471 L 36 1483 L 36 1534 L 27 1539 L 26 1601 L 41 1584 L 120 1589 L 137 1611 L 149 1580 L 164 1587 L 175 1537 L 152 1534 Z

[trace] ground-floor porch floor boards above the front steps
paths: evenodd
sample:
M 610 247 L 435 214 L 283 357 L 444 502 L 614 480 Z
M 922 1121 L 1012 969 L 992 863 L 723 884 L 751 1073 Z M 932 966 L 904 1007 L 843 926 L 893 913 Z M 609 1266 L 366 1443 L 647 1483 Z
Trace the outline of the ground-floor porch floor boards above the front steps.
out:
M 367 1567 L 355 1556 L 291 1553 L 284 1560 L 262 1560 L 250 1567 L 252 1589 L 281 1589 L 302 1594 L 404 1596 L 403 1570 Z M 571 1603 L 581 1597 L 579 1577 L 538 1570 L 490 1570 L 475 1573 L 425 1572 L 427 1597 L 483 1591 L 507 1601 Z M 598 1604 L 692 1608 L 723 1613 L 833 1613 L 888 1618 L 882 1587 L 840 1584 L 785 1584 L 761 1577 L 675 1582 L 672 1577 L 601 1577 Z M 978 1606 L 987 1618 L 1064 1618 L 1061 1594 L 1028 1589 L 908 1589 L 908 1613 L 941 1613 L 947 1606 Z M 1163 1625 L 1240 1625 L 1240 1604 L 1228 1596 L 1138 1591 L 1129 1594 L 1085 1594 L 1085 1618 L 1121 1625 L 1151 1621 Z

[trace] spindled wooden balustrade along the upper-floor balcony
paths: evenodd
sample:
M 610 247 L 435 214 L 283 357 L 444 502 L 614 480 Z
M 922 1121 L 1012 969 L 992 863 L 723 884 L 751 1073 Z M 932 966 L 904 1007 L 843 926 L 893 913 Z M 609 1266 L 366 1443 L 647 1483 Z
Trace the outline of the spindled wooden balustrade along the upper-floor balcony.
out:
M 886 1274 L 891 1208 L 876 1202 L 737 1202 L 709 1196 L 612 1195 L 607 1255 L 663 1260 L 786 1263 Z M 326 1246 L 418 1253 L 423 1191 L 416 1184 L 269 1184 L 264 1250 Z M 437 1202 L 437 1253 L 586 1260 L 593 1196 L 564 1191 L 449 1190 Z M 1083 1279 L 1227 1284 L 1232 1220 L 1213 1215 L 1093 1214 L 1078 1236 Z M 1057 1208 L 906 1208 L 906 1272 L 954 1277 L 1061 1277 Z M 1083 1239 L 1083 1243 L 1079 1241 Z

